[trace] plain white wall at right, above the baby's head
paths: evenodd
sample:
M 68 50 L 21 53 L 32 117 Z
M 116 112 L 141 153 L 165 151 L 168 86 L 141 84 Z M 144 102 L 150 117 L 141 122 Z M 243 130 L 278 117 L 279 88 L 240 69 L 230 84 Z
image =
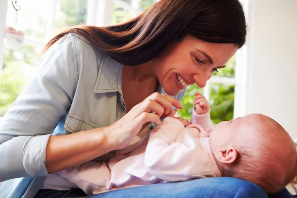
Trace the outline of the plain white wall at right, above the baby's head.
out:
M 297 138 L 297 0 L 250 0 L 248 113 L 278 121 Z

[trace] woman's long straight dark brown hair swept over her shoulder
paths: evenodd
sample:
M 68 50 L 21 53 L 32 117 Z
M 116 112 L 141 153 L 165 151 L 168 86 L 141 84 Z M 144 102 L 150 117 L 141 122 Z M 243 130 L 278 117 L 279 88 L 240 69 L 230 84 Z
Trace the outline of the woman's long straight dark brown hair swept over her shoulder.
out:
M 160 0 L 138 17 L 106 27 L 69 28 L 45 46 L 44 51 L 69 33 L 125 65 L 138 65 L 156 57 L 165 47 L 190 34 L 210 43 L 246 42 L 246 20 L 238 0 Z

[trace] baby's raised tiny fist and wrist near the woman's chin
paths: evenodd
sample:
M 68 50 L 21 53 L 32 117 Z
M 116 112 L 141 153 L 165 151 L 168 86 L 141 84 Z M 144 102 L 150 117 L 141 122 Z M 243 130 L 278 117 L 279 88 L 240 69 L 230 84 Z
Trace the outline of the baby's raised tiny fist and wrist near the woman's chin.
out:
M 210 132 L 213 127 L 209 114 L 209 103 L 205 97 L 199 93 L 195 93 L 194 109 L 190 122 L 192 124 L 198 124 L 206 132 Z

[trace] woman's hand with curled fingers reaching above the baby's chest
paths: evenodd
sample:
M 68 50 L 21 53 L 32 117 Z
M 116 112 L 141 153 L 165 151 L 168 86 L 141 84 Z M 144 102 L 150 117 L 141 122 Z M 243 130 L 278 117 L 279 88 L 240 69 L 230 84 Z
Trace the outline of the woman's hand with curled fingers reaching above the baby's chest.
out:
M 113 150 L 125 148 L 150 122 L 160 124 L 160 118 L 172 113 L 171 105 L 182 109 L 182 104 L 173 97 L 153 93 L 135 105 L 124 117 L 110 126 L 104 127 L 105 137 Z M 150 113 L 153 111 L 153 113 Z

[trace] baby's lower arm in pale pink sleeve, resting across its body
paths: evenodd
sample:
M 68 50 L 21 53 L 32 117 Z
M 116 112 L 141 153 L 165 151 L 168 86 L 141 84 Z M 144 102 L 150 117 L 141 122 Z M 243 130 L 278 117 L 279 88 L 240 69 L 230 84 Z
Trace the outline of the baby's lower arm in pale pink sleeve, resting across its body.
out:
M 185 129 L 178 119 L 166 117 L 150 132 L 145 152 L 145 167 L 148 172 L 164 181 L 185 181 L 189 179 L 189 164 L 182 151 L 182 143 L 175 142 Z

